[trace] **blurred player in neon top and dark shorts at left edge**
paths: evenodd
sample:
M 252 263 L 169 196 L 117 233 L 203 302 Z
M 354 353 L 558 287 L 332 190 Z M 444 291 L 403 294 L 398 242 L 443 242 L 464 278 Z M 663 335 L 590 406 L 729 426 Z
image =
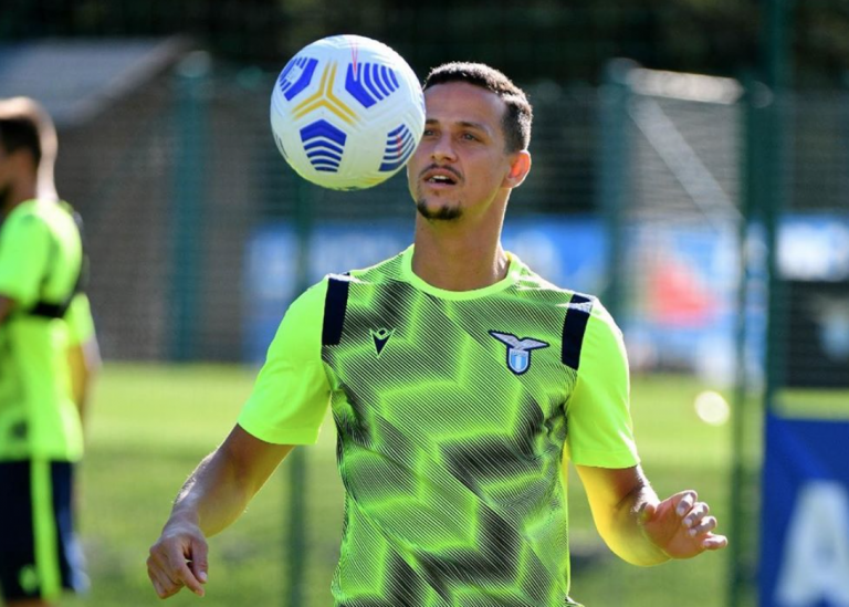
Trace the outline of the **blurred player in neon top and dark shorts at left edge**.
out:
M 53 124 L 0 100 L 0 596 L 50 605 L 85 584 L 73 533 L 73 467 L 98 363 L 84 254 L 56 198 Z

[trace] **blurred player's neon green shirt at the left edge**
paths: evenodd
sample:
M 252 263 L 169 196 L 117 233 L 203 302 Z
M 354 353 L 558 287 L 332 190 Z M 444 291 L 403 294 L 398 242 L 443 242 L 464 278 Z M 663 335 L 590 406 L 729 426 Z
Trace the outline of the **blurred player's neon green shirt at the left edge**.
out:
M 0 294 L 17 302 L 0 324 L 0 461 L 82 457 L 67 347 L 94 332 L 88 300 L 76 295 L 63 318 L 27 314 L 39 301 L 64 301 L 82 260 L 80 232 L 64 203 L 23 202 L 0 226 Z

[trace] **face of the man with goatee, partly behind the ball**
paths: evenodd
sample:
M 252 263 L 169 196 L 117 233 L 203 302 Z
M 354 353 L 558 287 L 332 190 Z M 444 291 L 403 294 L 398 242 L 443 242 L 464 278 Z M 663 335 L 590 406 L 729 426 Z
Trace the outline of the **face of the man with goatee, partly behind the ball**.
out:
M 427 122 L 407 166 L 416 206 L 426 219 L 483 212 L 505 187 L 513 155 L 505 151 L 504 102 L 464 82 L 424 92 Z

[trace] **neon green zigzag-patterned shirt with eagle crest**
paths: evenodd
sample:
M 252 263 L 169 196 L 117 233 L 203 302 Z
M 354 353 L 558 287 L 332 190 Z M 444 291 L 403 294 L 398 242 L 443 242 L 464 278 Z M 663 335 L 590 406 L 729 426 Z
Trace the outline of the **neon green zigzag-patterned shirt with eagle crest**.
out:
M 311 443 L 329 402 L 345 607 L 569 605 L 564 461 L 638 463 L 621 334 L 594 299 L 510 255 L 449 292 L 412 248 L 290 307 L 239 423 Z

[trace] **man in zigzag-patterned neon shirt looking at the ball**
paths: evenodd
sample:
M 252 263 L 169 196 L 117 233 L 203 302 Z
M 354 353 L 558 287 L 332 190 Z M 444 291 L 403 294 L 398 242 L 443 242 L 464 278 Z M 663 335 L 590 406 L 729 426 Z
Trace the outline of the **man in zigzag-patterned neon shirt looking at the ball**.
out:
M 345 607 L 549 607 L 568 598 L 572 460 L 610 547 L 638 565 L 725 545 L 683 491 L 659 501 L 628 411 L 621 335 L 597 300 L 500 242 L 531 168 L 531 106 L 481 64 L 438 67 L 408 165 L 415 244 L 328 276 L 287 311 L 235 428 L 190 477 L 148 574 L 202 595 L 205 537 L 234 521 L 328 400 L 346 490 Z

